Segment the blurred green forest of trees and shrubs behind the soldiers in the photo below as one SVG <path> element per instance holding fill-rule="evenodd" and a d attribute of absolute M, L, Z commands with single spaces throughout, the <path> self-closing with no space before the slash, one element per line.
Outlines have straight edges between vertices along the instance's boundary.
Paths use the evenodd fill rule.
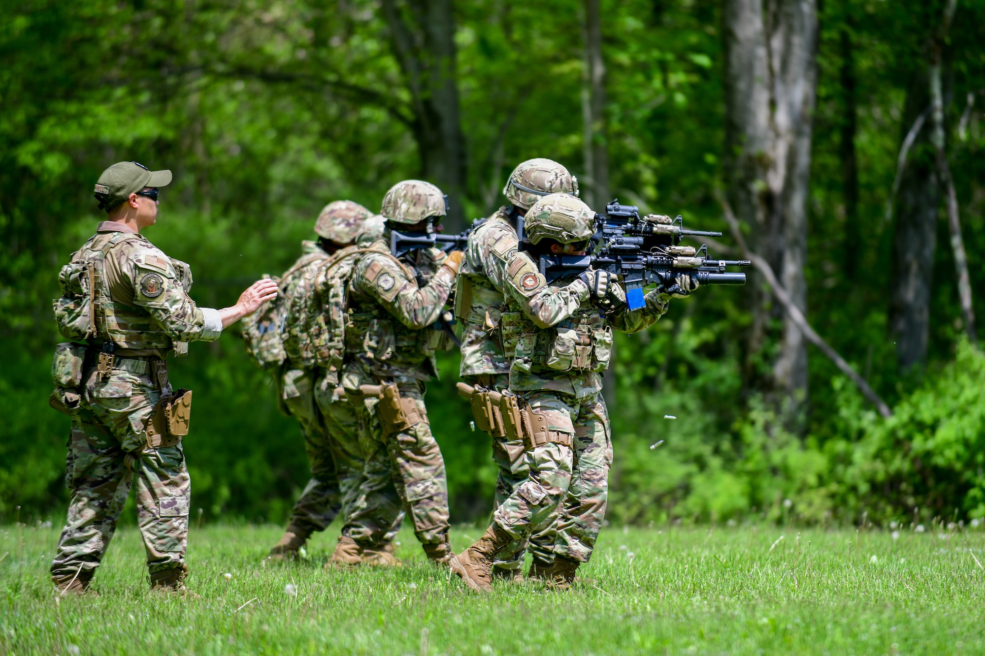
<path fill-rule="evenodd" d="M 760 273 L 701 289 L 618 339 L 611 520 L 985 516 L 985 358 L 949 229 L 956 215 L 963 297 L 982 316 L 985 2 L 3 5 L 0 521 L 61 521 L 50 301 L 100 220 L 108 164 L 174 172 L 147 236 L 222 307 L 285 270 L 329 201 L 378 211 L 393 183 L 423 177 L 460 230 L 533 157 L 567 165 L 596 210 L 619 197 L 682 214 L 725 232 L 713 254 L 740 257 L 727 205 L 891 410 L 808 346 Z M 195 390 L 193 505 L 205 521 L 284 520 L 306 461 L 270 373 L 236 330 L 171 363 Z M 454 394 L 457 356 L 440 363 L 429 415 L 452 518 L 469 521 L 492 507 L 491 449 Z"/>

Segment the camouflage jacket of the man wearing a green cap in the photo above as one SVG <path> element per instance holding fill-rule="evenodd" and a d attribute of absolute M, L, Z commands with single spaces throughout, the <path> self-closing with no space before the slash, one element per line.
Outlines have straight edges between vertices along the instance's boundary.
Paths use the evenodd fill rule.
<path fill-rule="evenodd" d="M 164 358 L 172 348 L 183 351 L 182 343 L 219 337 L 219 310 L 198 307 L 188 295 L 188 265 L 171 260 L 123 224 L 105 221 L 97 230 L 61 272 L 63 290 L 82 295 L 89 292 L 86 267 L 96 265 L 96 339 L 112 341 L 121 357 Z M 55 301 L 60 326 L 64 312 L 71 311 L 59 306 L 61 301 Z M 88 341 L 93 338 L 90 334 Z"/>

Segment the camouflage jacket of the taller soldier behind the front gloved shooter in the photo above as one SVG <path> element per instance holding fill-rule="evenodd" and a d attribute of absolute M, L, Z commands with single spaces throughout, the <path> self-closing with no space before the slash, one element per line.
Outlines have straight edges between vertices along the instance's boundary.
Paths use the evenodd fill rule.
<path fill-rule="evenodd" d="M 506 260 L 516 252 L 516 229 L 508 208 L 499 208 L 469 234 L 458 275 L 456 314 L 462 322 L 460 375 L 509 372 L 509 360 L 499 342 L 499 312 L 504 300 Z"/>

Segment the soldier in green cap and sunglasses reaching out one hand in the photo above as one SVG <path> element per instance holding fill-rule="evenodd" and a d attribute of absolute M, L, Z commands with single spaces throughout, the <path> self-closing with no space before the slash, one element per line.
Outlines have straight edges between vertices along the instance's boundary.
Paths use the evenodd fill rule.
<path fill-rule="evenodd" d="M 51 574 L 62 593 L 89 586 L 134 482 L 151 585 L 183 589 L 191 491 L 181 408 L 190 406 L 172 406 L 176 418 L 164 408 L 190 403 L 190 392 L 171 396 L 164 358 L 187 353 L 187 342 L 216 340 L 277 295 L 267 280 L 232 307 L 195 304 L 188 265 L 140 234 L 155 224 L 158 191 L 170 179 L 169 170 L 132 162 L 103 171 L 96 195 L 108 221 L 61 270 L 55 318 L 71 342 L 55 354 L 51 404 L 72 419 L 65 475 L 72 498 Z"/>

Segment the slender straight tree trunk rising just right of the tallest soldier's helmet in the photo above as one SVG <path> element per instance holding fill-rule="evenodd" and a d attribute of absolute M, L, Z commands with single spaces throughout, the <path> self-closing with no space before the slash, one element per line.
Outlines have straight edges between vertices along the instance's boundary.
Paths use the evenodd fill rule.
<path fill-rule="evenodd" d="M 596 212 L 605 210 L 609 197 L 609 153 L 606 145 L 606 65 L 602 58 L 602 17 L 599 0 L 584 0 L 584 69 L 581 114 L 584 124 L 584 201 Z"/>

